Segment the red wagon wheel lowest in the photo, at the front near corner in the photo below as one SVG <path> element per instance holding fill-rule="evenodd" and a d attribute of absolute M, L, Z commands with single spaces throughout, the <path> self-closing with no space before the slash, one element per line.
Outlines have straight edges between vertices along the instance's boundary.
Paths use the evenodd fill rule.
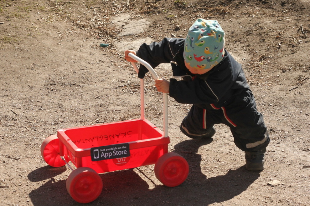
<path fill-rule="evenodd" d="M 88 167 L 75 169 L 66 181 L 67 191 L 79 203 L 90 203 L 101 194 L 102 180 L 95 170 Z"/>

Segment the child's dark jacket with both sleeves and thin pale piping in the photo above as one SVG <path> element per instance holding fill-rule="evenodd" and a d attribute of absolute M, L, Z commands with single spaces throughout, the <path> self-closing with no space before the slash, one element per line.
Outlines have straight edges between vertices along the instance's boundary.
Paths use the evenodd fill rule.
<path fill-rule="evenodd" d="M 184 41 L 183 38 L 164 38 L 159 43 L 143 43 L 137 51 L 137 56 L 153 68 L 160 63 L 176 62 L 171 63 L 173 77 L 183 77 L 183 80 L 170 79 L 170 97 L 178 103 L 218 109 L 233 102 L 235 95 L 249 90 L 241 65 L 226 50 L 223 60 L 209 72 L 202 75 L 190 73 L 184 64 Z M 143 65 L 140 69 L 146 70 Z"/>

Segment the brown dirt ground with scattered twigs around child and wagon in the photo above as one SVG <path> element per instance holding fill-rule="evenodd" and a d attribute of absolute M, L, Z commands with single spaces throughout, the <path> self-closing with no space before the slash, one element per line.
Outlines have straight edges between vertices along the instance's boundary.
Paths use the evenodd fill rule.
<path fill-rule="evenodd" d="M 188 161 L 185 182 L 164 186 L 154 165 L 103 173 L 88 205 L 310 205 L 309 15 L 308 0 L 0 0 L 0 205 L 82 205 L 66 190 L 70 168 L 47 165 L 42 142 L 62 128 L 139 118 L 124 50 L 185 38 L 197 18 L 220 22 L 243 65 L 270 133 L 265 169 L 245 170 L 225 125 L 209 140 L 184 136 L 191 105 L 169 98 L 168 150 Z M 165 65 L 156 71 L 171 77 Z M 162 129 L 162 94 L 145 81 L 146 118 Z"/>

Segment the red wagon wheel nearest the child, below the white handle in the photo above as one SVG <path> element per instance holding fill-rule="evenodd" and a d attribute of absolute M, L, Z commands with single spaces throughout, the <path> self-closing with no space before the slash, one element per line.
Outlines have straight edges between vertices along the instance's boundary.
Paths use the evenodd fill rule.
<path fill-rule="evenodd" d="M 161 183 L 168 187 L 176 187 L 187 178 L 189 164 L 177 153 L 165 153 L 155 163 L 154 172 Z"/>

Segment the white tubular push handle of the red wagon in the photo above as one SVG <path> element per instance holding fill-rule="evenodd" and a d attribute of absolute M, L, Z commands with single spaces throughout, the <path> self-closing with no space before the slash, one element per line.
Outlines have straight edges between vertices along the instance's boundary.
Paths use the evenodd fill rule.
<path fill-rule="evenodd" d="M 133 58 L 140 64 L 144 65 L 147 70 L 152 74 L 152 77 L 157 80 L 158 75 L 152 68 L 152 66 L 144 61 L 143 59 L 137 57 L 133 53 L 128 54 L 129 57 Z M 136 63 L 131 62 L 132 66 L 135 68 L 136 72 L 139 72 L 139 68 Z M 141 119 L 143 120 L 144 117 L 144 79 L 140 79 L 140 93 L 141 93 Z M 163 93 L 163 132 L 164 132 L 164 137 L 168 137 L 168 93 Z"/>

